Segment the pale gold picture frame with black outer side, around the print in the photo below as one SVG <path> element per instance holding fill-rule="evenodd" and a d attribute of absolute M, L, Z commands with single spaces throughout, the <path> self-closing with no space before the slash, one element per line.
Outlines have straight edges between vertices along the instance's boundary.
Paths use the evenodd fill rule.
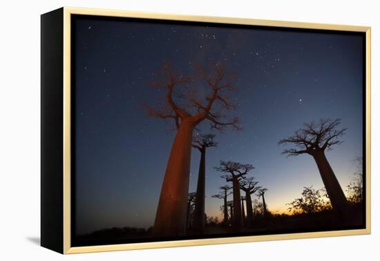
<path fill-rule="evenodd" d="M 55 12 L 55 11 L 53 11 Z M 53 18 L 55 21 L 61 21 L 61 31 L 58 33 L 61 34 L 62 42 L 62 51 L 61 54 L 63 59 L 61 76 L 62 76 L 62 105 L 63 105 L 63 115 L 62 115 L 62 139 L 61 148 L 63 149 L 62 153 L 62 162 L 61 170 L 62 179 L 55 181 L 54 186 L 61 186 L 62 191 L 62 205 L 57 203 L 59 210 L 52 209 L 51 206 L 44 209 L 44 204 L 46 204 L 45 197 L 46 193 L 41 193 L 41 200 L 43 201 L 41 209 L 41 225 L 43 226 L 44 232 L 41 231 L 41 244 L 44 247 L 53 249 L 60 253 L 90 253 L 90 252 L 99 252 L 99 251 L 120 251 L 120 250 L 131 250 L 131 249 L 151 249 L 151 248 L 163 248 L 163 247 L 184 247 L 184 246 L 196 246 L 196 245 L 208 245 L 208 244 L 226 244 L 226 243 L 240 243 L 240 242 L 257 242 L 257 241 L 267 241 L 267 240 L 289 240 L 289 239 L 300 239 L 300 238 L 319 238 L 319 237 L 332 237 L 332 236 L 342 236 L 342 235 L 365 235 L 370 234 L 371 231 L 371 206 L 370 206 L 370 153 L 371 153 L 371 115 L 370 115 L 370 71 L 371 71 L 371 62 L 370 62 L 370 35 L 371 28 L 364 26 L 345 26 L 345 25 L 333 25 L 333 24 L 323 24 L 323 23 L 301 23 L 301 22 L 292 22 L 292 21 L 270 21 L 270 20 L 259 20 L 259 19 L 243 19 L 243 18 L 231 18 L 231 17 L 203 17 L 203 16 L 193 16 L 193 15 L 180 15 L 180 14 L 160 14 L 160 13 L 151 13 L 151 12 L 131 12 L 131 11 L 121 11 L 121 10 L 99 10 L 99 9 L 88 9 L 88 8 L 61 8 L 59 11 L 59 18 Z M 72 247 L 70 243 L 71 237 L 71 108 L 72 103 L 70 100 L 71 97 L 71 84 L 72 79 L 70 77 L 71 73 L 71 17 L 73 14 L 81 15 L 92 15 L 92 16 L 105 16 L 105 17 L 130 17 L 130 18 L 139 18 L 139 19 L 164 19 L 164 20 L 173 20 L 173 21 L 196 21 L 196 22 L 207 22 L 207 23 L 228 23 L 232 25 L 247 25 L 247 26 L 267 26 L 267 27 L 276 27 L 276 28 L 299 28 L 299 29 L 316 29 L 316 30 L 339 30 L 339 31 L 350 31 L 350 32 L 363 32 L 365 33 L 365 229 L 352 229 L 352 230 L 342 230 L 342 231 L 320 231 L 320 232 L 310 232 L 310 233 L 289 233 L 289 234 L 278 234 L 278 235 L 249 235 L 249 236 L 238 236 L 231 238 L 207 238 L 207 239 L 196 239 L 196 240 L 175 240 L 175 241 L 162 241 L 162 242 L 143 242 L 143 243 L 131 243 L 131 244 L 107 244 L 107 245 L 97 245 L 97 246 L 88 246 L 88 247 Z M 43 20 L 44 15 L 43 14 Z M 49 20 L 46 20 L 49 22 Z M 48 32 L 53 32 L 52 29 L 44 29 L 44 24 L 42 24 L 42 32 L 45 32 L 48 35 Z M 49 31 L 48 31 L 49 30 Z M 44 36 L 42 35 L 44 40 Z M 57 39 L 57 41 L 60 41 Z M 42 41 L 44 45 L 44 41 Z M 41 47 L 41 48 L 44 48 Z M 44 51 L 44 50 L 43 50 Z M 44 61 L 44 57 L 42 58 Z M 46 74 L 46 67 L 42 70 L 42 76 Z M 59 72 L 56 72 L 59 73 Z M 48 80 L 46 80 L 47 82 Z M 59 81 L 58 81 L 59 82 Z M 57 83 L 57 81 L 55 82 Z M 51 84 L 50 84 L 51 85 Z M 44 90 L 44 87 L 43 87 Z M 44 101 L 43 101 L 44 102 Z M 43 108 L 44 110 L 44 108 Z M 44 112 L 42 112 L 44 114 Z M 47 116 L 46 116 L 47 117 Z M 47 121 L 47 120 L 46 120 Z M 44 123 L 43 123 L 44 126 Z M 54 136 L 54 135 L 53 135 Z M 53 139 L 54 137 L 51 137 Z M 50 139 L 50 138 L 46 138 Z M 44 143 L 44 141 L 42 141 Z M 44 152 L 43 152 L 44 153 Z M 46 155 L 46 157 L 49 157 Z M 46 160 L 48 160 L 46 158 Z M 44 157 L 43 157 L 44 162 Z M 44 172 L 44 170 L 42 170 Z M 44 182 L 44 178 L 48 179 L 44 173 L 41 174 L 41 181 Z M 46 180 L 46 184 L 50 184 L 50 181 Z M 51 186 L 51 185 L 50 185 Z M 44 189 L 42 187 L 41 189 Z M 55 197 L 52 197 L 54 200 Z M 45 200 L 45 201 L 44 201 Z M 53 203 L 52 203 L 53 204 Z M 61 211 L 61 212 L 60 212 Z M 50 218 L 53 218 L 57 213 L 63 213 L 61 220 L 58 222 L 61 224 L 59 228 L 57 226 L 54 229 L 46 226 L 46 223 Z M 57 230 L 61 230 L 61 241 L 59 243 L 50 244 L 48 240 L 51 239 L 51 234 Z M 50 238 L 49 238 L 50 235 Z M 61 244 L 61 247 L 55 247 L 57 244 Z"/>

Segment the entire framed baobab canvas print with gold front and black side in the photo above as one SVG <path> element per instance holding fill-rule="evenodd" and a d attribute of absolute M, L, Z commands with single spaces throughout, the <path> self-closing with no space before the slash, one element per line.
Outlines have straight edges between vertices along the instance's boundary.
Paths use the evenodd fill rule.
<path fill-rule="evenodd" d="M 41 245 L 370 233 L 370 28 L 41 15 Z"/>

